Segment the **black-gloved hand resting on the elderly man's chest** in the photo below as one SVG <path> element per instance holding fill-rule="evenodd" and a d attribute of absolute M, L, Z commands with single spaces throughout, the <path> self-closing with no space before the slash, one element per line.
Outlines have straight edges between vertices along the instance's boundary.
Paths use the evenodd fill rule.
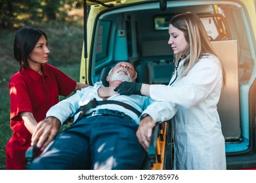
<path fill-rule="evenodd" d="M 114 89 L 120 95 L 141 95 L 140 88 L 142 83 L 138 82 L 122 82 L 117 88 Z"/>

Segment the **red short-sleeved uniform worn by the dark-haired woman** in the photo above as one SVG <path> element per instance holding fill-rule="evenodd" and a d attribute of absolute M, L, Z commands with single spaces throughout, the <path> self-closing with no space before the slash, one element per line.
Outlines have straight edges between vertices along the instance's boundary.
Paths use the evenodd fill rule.
<path fill-rule="evenodd" d="M 31 144 L 32 135 L 19 113 L 32 112 L 35 120 L 40 122 L 45 118 L 47 110 L 58 103 L 59 95 L 67 96 L 75 89 L 76 82 L 72 78 L 52 65 L 42 66 L 43 75 L 30 68 L 23 68 L 11 77 L 9 92 L 13 133 L 6 146 L 7 169 L 26 167 L 25 152 Z"/>

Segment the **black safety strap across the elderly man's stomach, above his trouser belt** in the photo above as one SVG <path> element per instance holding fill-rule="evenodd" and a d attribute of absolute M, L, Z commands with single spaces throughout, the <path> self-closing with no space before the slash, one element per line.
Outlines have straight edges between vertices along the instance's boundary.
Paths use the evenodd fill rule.
<path fill-rule="evenodd" d="M 120 101 L 110 101 L 110 100 L 96 101 L 96 99 L 93 98 L 93 99 L 91 99 L 91 101 L 89 101 L 89 103 L 79 107 L 79 109 L 75 112 L 75 114 L 77 114 L 78 112 L 81 111 L 79 116 L 78 116 L 78 118 L 77 118 L 77 120 L 75 120 L 75 122 L 78 122 L 79 120 L 84 118 L 84 116 L 86 115 L 86 112 L 88 110 L 90 110 L 91 108 L 95 108 L 97 105 L 104 105 L 104 104 L 121 105 L 122 107 L 125 107 L 125 108 L 135 112 L 135 114 L 137 114 L 138 116 L 140 116 L 140 114 L 141 114 L 141 112 L 139 112 L 139 110 L 137 110 L 136 108 L 132 107 L 131 105 L 128 105 L 127 103 L 123 103 L 123 102 L 120 102 Z M 74 116 L 75 116 L 75 114 L 74 114 Z"/>

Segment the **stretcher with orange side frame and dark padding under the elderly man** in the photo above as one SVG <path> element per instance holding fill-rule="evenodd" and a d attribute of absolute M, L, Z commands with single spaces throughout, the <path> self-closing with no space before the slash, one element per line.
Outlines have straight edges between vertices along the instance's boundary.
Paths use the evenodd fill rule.
<path fill-rule="evenodd" d="M 106 76 L 110 71 L 110 67 L 102 69 L 98 81 L 102 81 L 104 86 L 108 86 Z M 150 73 L 148 67 L 139 65 L 136 67 L 137 82 L 150 84 Z M 70 122 L 72 120 L 67 120 Z M 150 146 L 148 148 L 148 159 L 145 160 L 143 169 L 161 170 L 172 168 L 172 144 L 171 144 L 171 120 L 167 122 L 157 122 L 154 127 Z M 36 145 L 30 146 L 26 152 L 26 161 L 28 165 L 33 161 L 37 153 Z"/>

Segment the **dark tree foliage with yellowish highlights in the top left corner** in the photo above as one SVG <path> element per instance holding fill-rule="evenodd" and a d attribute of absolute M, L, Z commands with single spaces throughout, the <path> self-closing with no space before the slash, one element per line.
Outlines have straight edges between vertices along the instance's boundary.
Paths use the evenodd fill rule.
<path fill-rule="evenodd" d="M 65 21 L 69 10 L 81 4 L 69 0 L 0 0 L 1 27 L 21 27 L 51 21 Z"/>

